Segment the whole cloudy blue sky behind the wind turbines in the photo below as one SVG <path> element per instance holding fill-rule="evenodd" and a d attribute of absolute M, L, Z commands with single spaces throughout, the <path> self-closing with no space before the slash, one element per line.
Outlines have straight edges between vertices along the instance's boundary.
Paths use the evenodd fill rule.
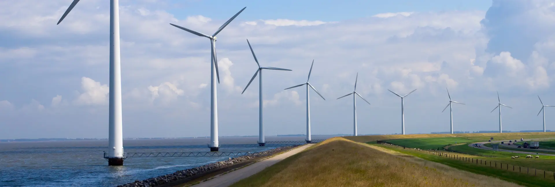
<path fill-rule="evenodd" d="M 108 137 L 109 3 L 0 1 L 0 139 Z M 124 137 L 210 134 L 210 48 L 171 26 L 218 34 L 220 136 L 258 135 L 258 78 L 264 72 L 266 135 L 352 133 L 359 73 L 359 134 L 542 130 L 541 103 L 555 105 L 555 1 L 162 1 L 121 0 Z M 555 109 L 546 108 L 548 130 Z"/>

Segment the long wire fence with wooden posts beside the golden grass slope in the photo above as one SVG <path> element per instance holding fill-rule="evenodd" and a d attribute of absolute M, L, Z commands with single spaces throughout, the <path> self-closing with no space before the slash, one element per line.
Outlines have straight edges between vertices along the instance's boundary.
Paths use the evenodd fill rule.
<path fill-rule="evenodd" d="M 508 163 L 502 163 L 502 162 L 499 162 L 499 161 L 490 161 L 488 159 L 482 159 L 482 158 L 460 156 L 458 154 L 454 154 L 454 153 L 450 153 L 450 152 L 446 153 L 446 152 L 439 152 L 439 151 L 435 151 L 435 150 L 430 151 L 430 150 L 424 150 L 424 149 L 419 149 L 419 148 L 410 148 L 410 147 L 406 147 L 406 146 L 393 145 L 391 143 L 385 143 L 385 142 L 380 142 L 380 144 L 387 145 L 387 146 L 392 146 L 392 147 L 396 147 L 396 148 L 402 148 L 402 149 L 406 149 L 408 151 L 416 151 L 416 152 L 421 152 L 421 153 L 437 155 L 439 157 L 451 158 L 451 159 L 459 160 L 461 162 L 473 163 L 473 164 L 480 165 L 480 166 L 483 166 L 483 167 L 492 167 L 492 168 L 496 168 L 496 169 L 503 169 L 503 170 L 507 170 L 507 171 L 511 171 L 511 172 L 517 172 L 517 173 L 521 173 L 521 174 L 532 175 L 532 176 L 537 177 L 537 178 L 555 180 L 555 172 L 551 172 L 551 171 L 547 171 L 547 170 L 529 168 L 529 167 L 521 167 L 519 165 L 512 165 L 512 164 L 508 164 Z M 464 153 L 464 154 L 467 154 L 467 153 Z M 526 158 L 520 157 L 520 158 L 515 158 L 515 159 L 526 159 Z M 529 159 L 535 159 L 535 157 L 532 156 L 532 158 L 529 158 Z"/>

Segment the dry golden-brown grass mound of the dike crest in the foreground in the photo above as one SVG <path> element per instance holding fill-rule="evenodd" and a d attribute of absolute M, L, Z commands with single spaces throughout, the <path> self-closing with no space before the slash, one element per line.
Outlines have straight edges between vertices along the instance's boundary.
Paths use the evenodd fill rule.
<path fill-rule="evenodd" d="M 232 186 L 519 186 L 336 137 Z"/>

